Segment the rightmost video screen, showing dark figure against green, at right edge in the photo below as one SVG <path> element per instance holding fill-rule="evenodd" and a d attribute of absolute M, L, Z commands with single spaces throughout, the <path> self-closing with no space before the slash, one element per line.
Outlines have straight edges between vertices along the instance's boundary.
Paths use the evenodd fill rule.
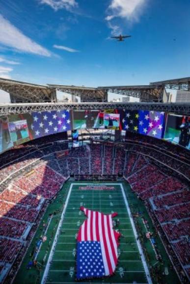
<path fill-rule="evenodd" d="M 190 117 L 168 115 L 164 140 L 190 149 Z"/>

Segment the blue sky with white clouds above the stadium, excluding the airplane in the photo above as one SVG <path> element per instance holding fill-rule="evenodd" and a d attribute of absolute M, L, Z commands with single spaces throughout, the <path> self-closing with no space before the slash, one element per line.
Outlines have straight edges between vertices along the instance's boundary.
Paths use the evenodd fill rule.
<path fill-rule="evenodd" d="M 1 0 L 0 77 L 149 84 L 190 76 L 189 0 Z M 130 34 L 125 42 L 109 37 Z"/>

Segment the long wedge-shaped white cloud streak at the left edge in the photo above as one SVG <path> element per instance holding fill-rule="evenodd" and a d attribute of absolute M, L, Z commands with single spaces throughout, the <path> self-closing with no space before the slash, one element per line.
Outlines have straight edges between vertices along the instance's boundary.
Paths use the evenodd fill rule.
<path fill-rule="evenodd" d="M 0 15 L 0 43 L 17 51 L 51 56 L 51 52 L 48 49 L 32 41 L 17 27 L 4 19 L 2 15 Z"/>

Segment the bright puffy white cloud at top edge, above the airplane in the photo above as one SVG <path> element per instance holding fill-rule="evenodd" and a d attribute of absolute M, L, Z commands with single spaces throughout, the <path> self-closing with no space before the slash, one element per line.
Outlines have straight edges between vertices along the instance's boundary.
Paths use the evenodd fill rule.
<path fill-rule="evenodd" d="M 120 17 L 129 21 L 137 21 L 139 13 L 147 0 L 111 0 L 106 20 Z"/>

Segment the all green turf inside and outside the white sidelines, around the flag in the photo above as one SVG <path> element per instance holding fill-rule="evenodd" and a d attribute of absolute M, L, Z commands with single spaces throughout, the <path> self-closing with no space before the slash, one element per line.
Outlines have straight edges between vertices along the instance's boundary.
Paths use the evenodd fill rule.
<path fill-rule="evenodd" d="M 83 183 L 83 182 L 82 182 Z M 64 185 L 63 189 L 59 192 L 57 198 L 49 205 L 47 212 L 44 215 L 44 218 L 41 221 L 39 229 L 34 236 L 34 239 L 28 249 L 27 255 L 23 261 L 23 264 L 17 274 L 15 279 L 16 284 L 34 284 L 40 283 L 40 280 L 43 275 L 43 271 L 45 269 L 45 265 L 48 260 L 50 247 L 52 245 L 54 234 L 56 232 L 56 228 L 58 226 L 58 220 L 60 219 L 60 213 L 57 212 L 54 215 L 54 218 L 51 221 L 50 227 L 47 232 L 47 241 L 43 243 L 40 253 L 38 255 L 37 261 L 42 264 L 38 264 L 38 268 L 32 267 L 27 270 L 26 266 L 29 260 L 31 260 L 31 252 L 35 247 L 35 242 L 39 238 L 42 232 L 43 221 L 47 222 L 48 216 L 50 213 L 53 213 L 55 210 L 62 211 L 63 204 L 66 199 L 67 192 L 70 187 L 70 182 L 67 182 Z M 148 217 L 148 213 L 143 205 L 143 203 L 137 200 L 134 193 L 131 191 L 128 184 L 123 182 L 124 189 L 126 191 L 126 195 L 128 198 L 129 205 L 132 211 L 143 211 L 143 214 L 146 215 L 146 218 L 149 221 L 149 225 L 152 228 L 151 220 Z M 111 195 L 111 198 L 110 196 Z M 110 204 L 113 203 L 113 206 Z M 53 261 L 50 266 L 47 283 L 73 283 L 75 282 L 75 249 L 76 249 L 76 234 L 82 224 L 85 216 L 83 212 L 79 211 L 79 207 L 83 205 L 86 208 L 97 210 L 103 213 L 111 213 L 118 212 L 118 218 L 120 220 L 120 225 L 118 227 L 119 231 L 123 234 L 124 237 L 120 238 L 120 246 L 119 250 L 121 252 L 119 257 L 119 263 L 116 269 L 116 273 L 114 276 L 100 280 L 93 280 L 91 282 L 94 283 L 146 283 L 146 276 L 144 273 L 143 265 L 140 260 L 138 248 L 136 245 L 136 240 L 134 237 L 134 233 L 132 230 L 132 226 L 130 223 L 130 219 L 124 204 L 123 196 L 121 193 L 121 189 L 119 186 L 115 186 L 115 190 L 111 191 L 97 191 L 97 190 L 79 190 L 78 186 L 74 186 L 70 199 L 68 202 L 68 206 L 65 212 L 64 220 L 62 223 L 62 227 L 60 230 L 60 234 L 58 236 L 57 244 L 55 247 L 55 252 L 53 255 Z M 80 222 L 79 222 L 80 221 Z M 141 232 L 145 233 L 143 224 L 139 218 L 138 220 L 139 227 L 141 228 Z M 52 238 L 52 239 L 51 239 Z M 50 240 L 51 239 L 51 240 Z M 149 263 L 151 266 L 155 265 L 161 266 L 161 273 L 163 272 L 165 266 L 168 267 L 169 275 L 164 276 L 165 283 L 177 284 L 178 279 L 173 271 L 170 269 L 170 262 L 166 256 L 166 253 L 163 249 L 163 245 L 159 239 L 156 238 L 158 242 L 158 247 L 162 252 L 162 256 L 164 259 L 164 265 L 161 266 L 157 262 L 155 258 L 154 251 L 149 242 L 145 242 L 144 246 L 147 249 L 147 256 L 149 258 Z M 126 243 L 127 242 L 127 243 Z M 43 259 L 46 255 L 45 262 L 43 263 Z M 160 265 L 160 266 L 159 266 Z M 155 267 L 153 266 L 153 267 Z M 41 269 L 40 269 L 41 268 Z M 122 274 L 121 274 L 122 272 Z M 156 280 L 153 279 L 153 282 L 156 283 Z M 84 283 L 84 282 L 82 282 Z M 86 281 L 89 283 L 89 281 Z"/>

